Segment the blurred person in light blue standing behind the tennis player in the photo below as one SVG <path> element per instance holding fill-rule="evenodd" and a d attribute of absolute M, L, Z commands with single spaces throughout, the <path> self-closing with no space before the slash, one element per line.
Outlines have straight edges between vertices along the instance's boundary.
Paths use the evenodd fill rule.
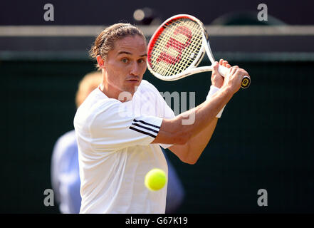
<path fill-rule="evenodd" d="M 75 104 L 78 108 L 85 98 L 97 88 L 103 79 L 101 71 L 87 73 L 80 81 L 75 95 Z M 184 200 L 184 187 L 172 163 L 167 159 L 165 150 L 162 150 L 168 165 L 168 187 L 166 199 L 166 214 L 174 213 Z M 51 157 L 51 185 L 56 202 L 61 213 L 77 214 L 80 212 L 80 175 L 78 166 L 78 145 L 75 131 L 70 130 L 61 135 L 53 147 Z"/>

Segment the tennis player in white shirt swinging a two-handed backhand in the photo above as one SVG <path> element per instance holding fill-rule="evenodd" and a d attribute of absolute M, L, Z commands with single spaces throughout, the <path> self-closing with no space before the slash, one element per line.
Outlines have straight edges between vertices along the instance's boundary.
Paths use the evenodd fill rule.
<path fill-rule="evenodd" d="M 211 89 L 201 105 L 175 116 L 146 71 L 147 43 L 139 28 L 114 24 L 90 51 L 103 81 L 74 118 L 80 165 L 80 213 L 164 213 L 167 186 L 150 192 L 144 178 L 152 168 L 167 173 L 159 145 L 194 164 L 209 142 L 224 108 L 248 73 L 231 67 L 223 78 L 214 64 Z M 194 123 L 182 124 L 194 116 Z"/>

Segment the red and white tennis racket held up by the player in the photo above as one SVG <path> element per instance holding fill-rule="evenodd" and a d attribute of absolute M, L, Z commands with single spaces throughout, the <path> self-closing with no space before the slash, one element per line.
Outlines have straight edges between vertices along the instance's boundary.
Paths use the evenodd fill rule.
<path fill-rule="evenodd" d="M 215 62 L 209 46 L 209 36 L 199 19 L 187 14 L 172 16 L 152 35 L 147 48 L 147 68 L 157 78 L 175 81 L 194 73 L 212 71 L 211 66 L 197 67 L 206 52 Z M 219 65 L 221 76 L 229 68 Z M 248 88 L 251 78 L 244 76 L 241 88 Z"/>

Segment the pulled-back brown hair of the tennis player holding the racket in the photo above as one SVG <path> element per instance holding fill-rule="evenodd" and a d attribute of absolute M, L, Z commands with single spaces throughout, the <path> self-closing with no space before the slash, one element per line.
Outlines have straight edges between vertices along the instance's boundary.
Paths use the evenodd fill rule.
<path fill-rule="evenodd" d="M 105 30 L 103 30 L 95 39 L 92 48 L 90 48 L 90 57 L 95 59 L 98 55 L 100 55 L 105 61 L 108 56 L 108 52 L 114 48 L 115 41 L 120 38 L 124 38 L 125 36 L 133 35 L 142 36 L 142 38 L 146 41 L 144 33 L 132 24 L 118 23 L 105 28 Z M 99 68 L 98 65 L 97 67 Z"/>

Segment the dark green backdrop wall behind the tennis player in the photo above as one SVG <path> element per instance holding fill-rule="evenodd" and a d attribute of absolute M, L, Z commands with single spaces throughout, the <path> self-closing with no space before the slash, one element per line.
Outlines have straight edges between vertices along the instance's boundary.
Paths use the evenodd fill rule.
<path fill-rule="evenodd" d="M 249 60 L 249 58 L 248 58 Z M 183 213 L 314 212 L 313 61 L 234 61 L 252 84 L 226 105 L 196 165 L 169 152 L 186 197 Z M 73 129 L 78 81 L 86 61 L 0 61 L 2 213 L 57 213 L 45 207 L 54 142 Z M 159 91 L 195 91 L 202 103 L 209 73 L 164 82 Z M 258 207 L 266 189 L 268 206 Z"/>

